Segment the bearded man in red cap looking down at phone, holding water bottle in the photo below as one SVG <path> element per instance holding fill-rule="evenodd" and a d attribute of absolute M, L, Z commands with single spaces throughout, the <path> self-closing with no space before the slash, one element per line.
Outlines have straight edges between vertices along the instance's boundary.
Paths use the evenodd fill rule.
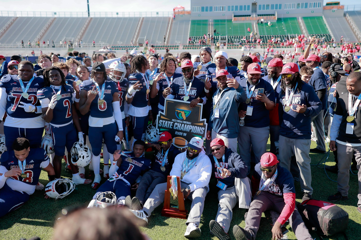
<path fill-rule="evenodd" d="M 247 82 L 242 86 L 246 92 L 246 101 L 239 105 L 239 117 L 244 121 L 238 133 L 239 155 L 251 171 L 251 145 L 256 163 L 266 152 L 270 129 L 269 111 L 275 107 L 274 90 L 270 83 L 261 78 L 261 66 L 251 63 L 247 68 Z M 262 91 L 263 93 L 261 93 Z M 233 150 L 233 149 L 232 149 Z"/>

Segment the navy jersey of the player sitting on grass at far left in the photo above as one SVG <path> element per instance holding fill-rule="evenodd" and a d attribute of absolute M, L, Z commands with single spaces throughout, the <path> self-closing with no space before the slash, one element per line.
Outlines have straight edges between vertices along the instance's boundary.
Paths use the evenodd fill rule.
<path fill-rule="evenodd" d="M 46 160 L 49 160 L 49 158 L 44 149 L 31 148 L 29 151 L 29 155 L 25 159 L 26 166 L 24 173 L 26 174 L 26 178 L 22 178 L 21 176 L 11 177 L 11 178 L 22 182 L 26 182 L 27 184 L 30 185 L 38 184 L 40 172 L 42 171 L 40 164 Z M 1 161 L 1 165 L 8 170 L 12 168 L 19 168 L 18 159 L 15 157 L 14 150 L 5 151 L 3 154 L 1 154 L 0 161 Z"/>

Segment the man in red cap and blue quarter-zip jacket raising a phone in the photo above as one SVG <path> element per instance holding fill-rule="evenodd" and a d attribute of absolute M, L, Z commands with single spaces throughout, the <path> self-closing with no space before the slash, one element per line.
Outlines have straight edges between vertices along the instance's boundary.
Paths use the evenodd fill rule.
<path fill-rule="evenodd" d="M 225 145 L 237 151 L 238 106 L 246 99 L 246 94 L 235 78 L 227 78 L 228 72 L 219 69 L 216 73 L 218 88 L 213 94 L 212 109 L 208 122 L 208 140 L 219 137 L 225 141 Z"/>

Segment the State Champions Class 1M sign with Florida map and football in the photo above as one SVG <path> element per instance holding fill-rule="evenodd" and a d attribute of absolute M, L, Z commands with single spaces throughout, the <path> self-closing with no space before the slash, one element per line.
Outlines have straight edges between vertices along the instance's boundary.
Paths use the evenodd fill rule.
<path fill-rule="evenodd" d="M 203 105 L 190 107 L 190 102 L 165 99 L 164 112 L 157 116 L 158 133 L 167 131 L 173 136 L 173 145 L 184 148 L 192 137 L 205 139 L 206 119 L 202 117 Z"/>

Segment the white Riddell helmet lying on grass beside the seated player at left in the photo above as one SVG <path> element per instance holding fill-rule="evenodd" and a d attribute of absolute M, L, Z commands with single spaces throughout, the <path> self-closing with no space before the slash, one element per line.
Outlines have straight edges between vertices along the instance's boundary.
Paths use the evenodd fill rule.
<path fill-rule="evenodd" d="M 75 189 L 75 183 L 68 178 L 50 181 L 45 187 L 45 194 L 51 198 L 64 198 Z"/>

